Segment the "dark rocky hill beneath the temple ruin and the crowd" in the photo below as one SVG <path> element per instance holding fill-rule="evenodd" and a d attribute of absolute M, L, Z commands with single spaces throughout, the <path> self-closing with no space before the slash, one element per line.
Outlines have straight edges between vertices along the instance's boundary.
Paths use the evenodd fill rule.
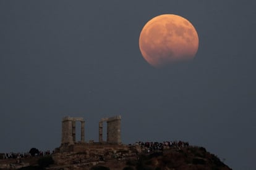
<path fill-rule="evenodd" d="M 0 169 L 231 169 L 203 147 L 166 147 L 158 143 L 95 144 L 83 152 L 56 152 L 31 160 L 22 158 L 20 163 L 25 166 L 15 163 L 16 160 L 0 160 Z"/>

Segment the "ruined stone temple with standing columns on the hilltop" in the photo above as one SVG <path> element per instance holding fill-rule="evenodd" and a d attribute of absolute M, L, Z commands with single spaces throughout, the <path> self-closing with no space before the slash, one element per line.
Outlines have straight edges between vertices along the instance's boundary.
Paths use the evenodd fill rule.
<path fill-rule="evenodd" d="M 76 122 L 81 123 L 81 138 L 76 141 Z M 103 123 L 107 123 L 106 129 L 106 141 L 103 140 Z M 99 122 L 99 141 L 93 142 L 90 140 L 89 143 L 85 142 L 85 121 L 83 118 L 72 118 L 66 116 L 62 118 L 62 137 L 60 152 L 75 152 L 87 148 L 88 145 L 92 147 L 95 145 L 120 145 L 121 142 L 121 116 L 114 116 L 111 118 L 102 118 Z"/>

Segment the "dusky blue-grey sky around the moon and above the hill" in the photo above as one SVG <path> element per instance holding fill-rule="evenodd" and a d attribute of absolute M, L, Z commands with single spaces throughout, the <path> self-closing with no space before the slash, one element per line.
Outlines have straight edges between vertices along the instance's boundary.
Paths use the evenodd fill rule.
<path fill-rule="evenodd" d="M 63 116 L 122 116 L 122 142 L 185 140 L 254 169 L 255 1 L 0 1 L 0 153 L 59 147 Z M 187 18 L 191 62 L 156 69 L 143 25 Z"/>

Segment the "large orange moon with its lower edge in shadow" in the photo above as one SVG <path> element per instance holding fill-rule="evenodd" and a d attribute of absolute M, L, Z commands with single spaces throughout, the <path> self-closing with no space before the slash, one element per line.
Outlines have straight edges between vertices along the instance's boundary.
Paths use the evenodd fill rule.
<path fill-rule="evenodd" d="M 152 18 L 139 38 L 140 52 L 153 67 L 192 60 L 198 49 L 198 34 L 192 23 L 179 15 Z"/>

